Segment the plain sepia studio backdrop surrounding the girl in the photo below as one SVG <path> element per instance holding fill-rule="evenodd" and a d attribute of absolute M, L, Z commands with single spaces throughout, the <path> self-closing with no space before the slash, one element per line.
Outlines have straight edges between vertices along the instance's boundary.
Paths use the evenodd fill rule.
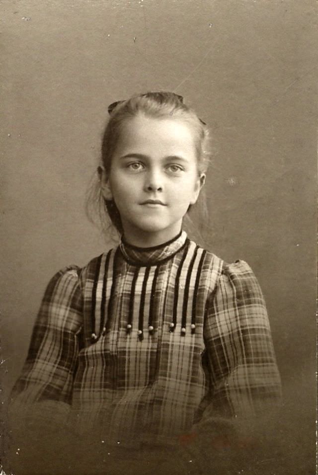
<path fill-rule="evenodd" d="M 211 129 L 205 245 L 247 261 L 267 302 L 279 473 L 315 473 L 316 4 L 1 1 L 2 406 L 49 279 L 114 245 L 84 213 L 107 105 L 172 90 Z"/>

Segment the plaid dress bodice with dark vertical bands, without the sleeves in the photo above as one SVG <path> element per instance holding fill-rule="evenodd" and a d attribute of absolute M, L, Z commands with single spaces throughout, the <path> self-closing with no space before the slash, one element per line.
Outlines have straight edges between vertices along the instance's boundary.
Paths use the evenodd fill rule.
<path fill-rule="evenodd" d="M 185 432 L 211 389 L 204 315 L 223 261 L 185 234 L 173 246 L 148 262 L 136 249 L 112 249 L 81 274 L 84 347 L 73 409 L 81 427 L 98 427 L 114 444 Z"/>

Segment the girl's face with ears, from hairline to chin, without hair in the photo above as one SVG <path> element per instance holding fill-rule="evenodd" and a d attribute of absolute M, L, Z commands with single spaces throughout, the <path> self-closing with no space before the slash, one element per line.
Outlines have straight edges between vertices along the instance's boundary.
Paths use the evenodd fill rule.
<path fill-rule="evenodd" d="M 102 192 L 115 201 L 128 242 L 153 246 L 180 232 L 204 179 L 187 123 L 139 115 L 123 126 Z"/>

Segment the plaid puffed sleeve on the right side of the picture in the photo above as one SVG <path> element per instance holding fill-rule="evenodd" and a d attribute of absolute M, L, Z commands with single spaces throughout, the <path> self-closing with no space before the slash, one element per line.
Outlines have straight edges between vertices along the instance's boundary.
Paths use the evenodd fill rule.
<path fill-rule="evenodd" d="M 281 381 L 264 298 L 249 265 L 223 265 L 204 329 L 211 394 L 197 428 L 250 434 L 273 419 Z"/>

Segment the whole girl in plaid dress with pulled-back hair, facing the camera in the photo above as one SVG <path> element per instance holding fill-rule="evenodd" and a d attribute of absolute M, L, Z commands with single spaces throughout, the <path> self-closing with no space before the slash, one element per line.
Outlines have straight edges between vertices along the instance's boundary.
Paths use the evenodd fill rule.
<path fill-rule="evenodd" d="M 252 270 L 182 230 L 205 182 L 205 124 L 169 92 L 115 102 L 109 113 L 99 198 L 121 241 L 50 281 L 12 393 L 13 430 L 29 445 L 40 434 L 37 452 L 45 434 L 45 464 L 48 448 L 55 463 L 64 448 L 63 473 L 81 473 L 79 457 L 86 474 L 172 474 L 170 451 L 246 441 L 279 399 L 280 378 Z M 198 474 L 199 459 L 178 460 Z"/>

